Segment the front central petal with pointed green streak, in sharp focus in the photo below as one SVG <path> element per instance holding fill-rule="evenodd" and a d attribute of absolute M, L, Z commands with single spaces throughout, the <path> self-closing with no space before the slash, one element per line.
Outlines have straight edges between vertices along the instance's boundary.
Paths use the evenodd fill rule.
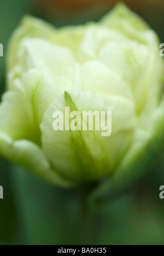
<path fill-rule="evenodd" d="M 102 137 L 102 131 L 94 128 L 93 131 L 52 130 L 52 114 L 56 110 L 65 114 L 66 106 L 81 114 L 89 110 L 112 110 L 112 136 Z M 131 144 L 135 125 L 131 101 L 95 92 L 69 91 L 54 101 L 44 115 L 41 125 L 44 154 L 67 179 L 97 179 L 111 173 L 118 164 Z"/>

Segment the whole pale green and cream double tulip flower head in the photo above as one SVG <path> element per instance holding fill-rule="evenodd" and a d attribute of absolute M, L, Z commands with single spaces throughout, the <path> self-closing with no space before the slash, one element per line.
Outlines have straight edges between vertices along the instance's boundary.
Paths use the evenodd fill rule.
<path fill-rule="evenodd" d="M 63 186 L 131 181 L 134 166 L 144 172 L 143 156 L 149 162 L 162 148 L 162 75 L 155 32 L 125 5 L 99 22 L 60 29 L 26 17 L 8 50 L 0 153 Z M 77 114 L 73 122 L 66 109 Z M 84 112 L 112 112 L 112 134 L 105 114 L 103 125 L 97 117 L 86 129 Z"/>

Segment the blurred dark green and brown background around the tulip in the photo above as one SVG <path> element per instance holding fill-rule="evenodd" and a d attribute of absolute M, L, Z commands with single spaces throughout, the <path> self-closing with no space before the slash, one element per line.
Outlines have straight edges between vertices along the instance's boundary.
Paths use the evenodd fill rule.
<path fill-rule="evenodd" d="M 0 95 L 5 88 L 5 56 L 8 39 L 22 16 L 30 13 L 55 26 L 98 20 L 116 0 L 1 0 Z M 164 1 L 127 0 L 159 34 L 164 43 Z M 163 155 L 156 168 L 131 191 L 109 203 L 99 204 L 90 223 L 92 244 L 164 245 L 164 200 L 159 188 L 164 185 Z M 0 158 L 0 245 L 75 245 L 83 240 L 78 217 L 79 191 L 54 188 Z M 103 214 L 101 214 L 103 213 Z M 102 217 L 103 216 L 103 217 Z M 96 228 L 95 228 L 96 227 Z M 90 243 L 91 243 L 90 242 Z"/>

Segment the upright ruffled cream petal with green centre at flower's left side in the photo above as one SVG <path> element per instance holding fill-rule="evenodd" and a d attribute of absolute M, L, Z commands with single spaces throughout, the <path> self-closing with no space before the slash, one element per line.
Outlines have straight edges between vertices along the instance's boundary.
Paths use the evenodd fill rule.
<path fill-rule="evenodd" d="M 14 89 L 3 96 L 0 105 L 0 131 L 13 139 L 40 142 L 39 124 L 49 104 L 59 92 L 51 79 L 31 70 L 16 79 Z"/>

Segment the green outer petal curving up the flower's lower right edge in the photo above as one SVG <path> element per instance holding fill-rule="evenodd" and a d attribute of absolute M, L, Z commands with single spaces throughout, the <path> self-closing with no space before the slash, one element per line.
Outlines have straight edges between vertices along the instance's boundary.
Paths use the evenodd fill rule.
<path fill-rule="evenodd" d="M 132 147 L 116 169 L 113 176 L 100 183 L 91 195 L 91 200 L 109 199 L 122 190 L 132 187 L 145 171 L 156 165 L 158 156 L 164 149 L 164 102 L 157 108 L 147 127 L 147 132 L 138 130 Z"/>

